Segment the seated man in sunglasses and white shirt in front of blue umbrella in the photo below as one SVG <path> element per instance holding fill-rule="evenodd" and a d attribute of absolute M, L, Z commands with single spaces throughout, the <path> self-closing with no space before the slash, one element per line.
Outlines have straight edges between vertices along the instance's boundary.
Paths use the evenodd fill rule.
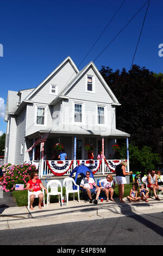
<path fill-rule="evenodd" d="M 96 188 L 93 188 L 93 186 L 95 186 Z M 97 204 L 97 199 L 99 197 L 99 194 L 101 192 L 100 187 L 97 186 L 95 180 L 93 178 L 90 178 L 90 172 L 89 170 L 86 171 L 86 177 L 82 179 L 81 183 L 80 183 L 80 187 L 83 188 L 84 191 L 86 191 L 87 196 L 90 199 L 90 203 L 92 203 L 92 196 L 91 193 L 95 193 L 96 192 L 96 199 L 93 201 L 93 204 Z"/>

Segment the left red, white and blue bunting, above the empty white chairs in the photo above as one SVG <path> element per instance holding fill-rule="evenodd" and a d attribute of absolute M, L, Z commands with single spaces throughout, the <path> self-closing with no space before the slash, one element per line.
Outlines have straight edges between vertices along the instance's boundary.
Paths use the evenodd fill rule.
<path fill-rule="evenodd" d="M 72 166 L 73 160 L 71 161 L 46 161 L 47 166 L 55 176 L 64 175 Z"/>

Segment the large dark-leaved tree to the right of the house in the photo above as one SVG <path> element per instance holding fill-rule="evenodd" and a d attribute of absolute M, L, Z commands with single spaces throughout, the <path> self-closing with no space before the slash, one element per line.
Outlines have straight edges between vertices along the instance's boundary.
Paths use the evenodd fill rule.
<path fill-rule="evenodd" d="M 117 129 L 130 133 L 130 143 L 162 155 L 162 76 L 137 65 L 128 72 L 102 66 L 100 72 L 121 103 L 116 108 Z"/>

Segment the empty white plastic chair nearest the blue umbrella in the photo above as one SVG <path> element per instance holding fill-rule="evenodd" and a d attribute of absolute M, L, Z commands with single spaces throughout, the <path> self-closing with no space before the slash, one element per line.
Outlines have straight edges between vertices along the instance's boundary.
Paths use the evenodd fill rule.
<path fill-rule="evenodd" d="M 80 197 L 79 197 L 79 185 L 76 184 L 73 178 L 65 178 L 63 185 L 66 187 L 66 193 L 65 193 L 65 200 L 68 204 L 68 194 L 73 193 L 73 200 L 74 200 L 74 193 L 78 193 L 78 201 L 80 202 Z M 73 186 L 77 186 L 76 190 L 73 190 Z"/>

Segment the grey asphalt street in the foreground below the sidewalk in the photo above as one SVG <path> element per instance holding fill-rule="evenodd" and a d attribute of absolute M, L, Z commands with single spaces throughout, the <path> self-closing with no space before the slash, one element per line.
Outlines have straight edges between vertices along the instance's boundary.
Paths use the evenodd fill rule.
<path fill-rule="evenodd" d="M 106 248 L 108 245 L 163 245 L 162 219 L 163 212 L 156 212 L 1 230 L 0 241 L 1 245 L 58 245 L 69 248 L 71 245 L 101 245 Z"/>

